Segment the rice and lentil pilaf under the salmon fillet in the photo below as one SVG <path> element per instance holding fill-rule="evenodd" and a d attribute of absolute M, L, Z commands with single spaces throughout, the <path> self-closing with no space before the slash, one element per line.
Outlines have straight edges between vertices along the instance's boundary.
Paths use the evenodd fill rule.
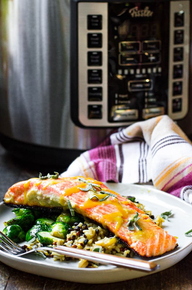
<path fill-rule="evenodd" d="M 137 202 L 135 203 L 135 205 L 141 210 L 145 211 L 145 213 L 148 214 L 158 226 L 162 226 L 162 222 L 164 222 L 164 219 L 160 215 L 157 215 L 156 219 L 154 219 L 151 211 L 146 211 L 143 204 Z M 53 258 L 54 261 L 60 260 L 62 262 L 64 260 L 70 260 L 72 258 L 54 252 L 54 247 L 64 245 L 67 247 L 85 249 L 112 255 L 119 255 L 122 257 L 133 256 L 133 251 L 128 249 L 128 246 L 123 243 L 119 238 L 114 236 L 112 232 L 104 229 L 101 225 L 98 225 L 88 219 L 85 219 L 84 222 L 74 223 L 69 231 L 70 232 L 67 234 L 65 240 L 59 239 L 58 241 L 57 238 L 55 238 L 53 244 L 49 245 L 53 247 L 53 251 L 50 251 L 50 253 L 48 253 L 47 251 L 42 251 L 43 254 L 46 257 Z M 34 242 L 29 242 L 28 244 L 26 244 L 26 246 L 30 250 L 37 246 L 42 246 L 42 244 L 36 238 Z M 92 268 L 98 267 L 98 265 L 96 263 L 80 259 L 78 262 L 78 267 Z"/>

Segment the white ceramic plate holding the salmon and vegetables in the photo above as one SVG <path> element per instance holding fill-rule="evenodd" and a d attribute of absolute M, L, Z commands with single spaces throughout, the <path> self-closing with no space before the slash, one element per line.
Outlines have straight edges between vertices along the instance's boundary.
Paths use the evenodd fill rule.
<path fill-rule="evenodd" d="M 192 237 L 184 235 L 186 231 L 192 228 L 192 207 L 190 204 L 150 186 L 124 183 L 107 183 L 107 186 L 121 195 L 135 196 L 136 200 L 143 203 L 146 210 L 152 210 L 152 214 L 155 216 L 172 210 L 173 217 L 169 218 L 169 221 L 165 221 L 163 227 L 169 234 L 178 237 L 179 246 L 174 251 L 153 259 L 160 265 L 160 269 L 157 271 L 167 269 L 190 253 Z M 14 214 L 11 210 L 11 208 L 0 203 L 0 230 L 4 228 L 3 222 L 13 217 Z M 100 265 L 98 268 L 89 269 L 78 268 L 78 262 L 76 261 L 54 262 L 51 258 L 42 259 L 32 254 L 15 257 L 3 253 L 1 250 L 0 260 L 6 265 L 24 272 L 80 283 L 119 282 L 148 275 L 146 272 L 110 265 Z"/>

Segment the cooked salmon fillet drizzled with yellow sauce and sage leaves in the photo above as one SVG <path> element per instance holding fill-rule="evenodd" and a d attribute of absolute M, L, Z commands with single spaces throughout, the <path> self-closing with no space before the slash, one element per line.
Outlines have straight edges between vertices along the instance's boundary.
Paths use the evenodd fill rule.
<path fill-rule="evenodd" d="M 157 226 L 133 202 L 91 178 L 20 181 L 8 189 L 4 203 L 13 207 L 72 207 L 112 231 L 143 257 L 159 256 L 177 246 L 176 238 Z"/>

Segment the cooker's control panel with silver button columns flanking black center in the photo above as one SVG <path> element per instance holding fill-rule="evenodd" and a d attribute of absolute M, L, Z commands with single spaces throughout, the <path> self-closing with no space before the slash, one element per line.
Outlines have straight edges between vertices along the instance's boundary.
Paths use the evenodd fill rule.
<path fill-rule="evenodd" d="M 189 0 L 78 2 L 78 125 L 184 118 L 189 6 Z"/>

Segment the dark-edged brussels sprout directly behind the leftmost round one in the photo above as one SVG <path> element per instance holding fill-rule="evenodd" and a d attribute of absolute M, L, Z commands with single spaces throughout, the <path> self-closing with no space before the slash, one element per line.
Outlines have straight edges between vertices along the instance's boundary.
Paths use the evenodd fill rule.
<path fill-rule="evenodd" d="M 5 226 L 11 226 L 12 224 L 17 224 L 18 226 L 21 226 L 23 231 L 28 231 L 30 227 L 32 226 L 34 222 L 34 216 L 33 215 L 21 215 L 18 217 L 15 217 L 13 219 L 10 219 L 8 222 L 4 222 Z"/>

